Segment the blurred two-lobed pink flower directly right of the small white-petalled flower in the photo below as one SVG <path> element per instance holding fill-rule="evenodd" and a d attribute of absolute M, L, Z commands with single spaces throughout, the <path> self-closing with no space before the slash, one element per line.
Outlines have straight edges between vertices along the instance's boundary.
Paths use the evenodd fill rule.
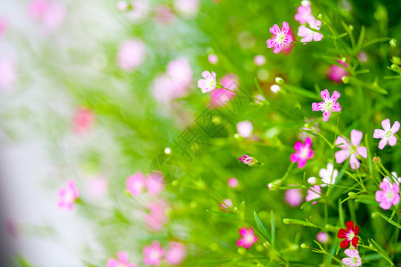
<path fill-rule="evenodd" d="M 230 90 L 236 91 L 238 89 L 238 77 L 233 73 L 227 73 L 219 80 L 220 84 Z M 232 101 L 236 93 L 225 90 L 224 88 L 213 90 L 210 93 L 209 108 L 223 107 L 229 101 Z"/>

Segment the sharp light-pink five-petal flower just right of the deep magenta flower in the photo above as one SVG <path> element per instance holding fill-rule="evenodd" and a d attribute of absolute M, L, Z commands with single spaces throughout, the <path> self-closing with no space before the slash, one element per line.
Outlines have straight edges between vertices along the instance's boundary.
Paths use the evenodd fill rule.
<path fill-rule="evenodd" d="M 365 147 L 360 147 L 359 144 L 362 141 L 362 137 L 364 134 L 357 130 L 351 131 L 351 142 L 348 142 L 343 137 L 337 137 L 335 142 L 336 146 L 338 146 L 341 150 L 337 151 L 334 155 L 337 163 L 343 163 L 347 158 L 349 158 L 349 164 L 352 169 L 359 168 L 359 161 L 356 158 L 357 156 L 361 156 L 363 158 L 367 157 L 367 150 Z"/>

